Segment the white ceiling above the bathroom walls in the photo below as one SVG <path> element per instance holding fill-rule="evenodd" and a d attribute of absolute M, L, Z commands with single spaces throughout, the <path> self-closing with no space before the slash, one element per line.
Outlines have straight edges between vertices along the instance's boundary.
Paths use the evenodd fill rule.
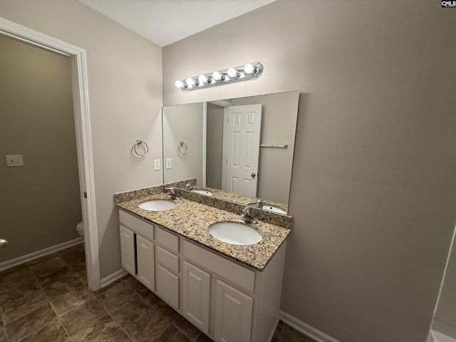
<path fill-rule="evenodd" d="M 276 0 L 79 0 L 158 46 L 167 46 Z"/>

